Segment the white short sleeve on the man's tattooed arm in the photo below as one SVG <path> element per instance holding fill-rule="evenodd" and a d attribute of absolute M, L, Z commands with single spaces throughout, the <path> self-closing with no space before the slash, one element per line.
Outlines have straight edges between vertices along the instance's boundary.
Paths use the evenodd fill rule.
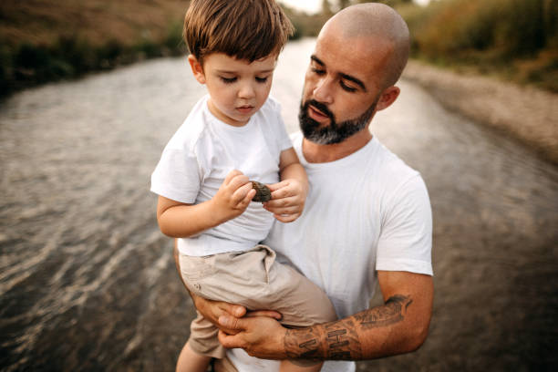
<path fill-rule="evenodd" d="M 432 275 L 432 212 L 422 178 L 404 181 L 382 208 L 376 269 Z"/>

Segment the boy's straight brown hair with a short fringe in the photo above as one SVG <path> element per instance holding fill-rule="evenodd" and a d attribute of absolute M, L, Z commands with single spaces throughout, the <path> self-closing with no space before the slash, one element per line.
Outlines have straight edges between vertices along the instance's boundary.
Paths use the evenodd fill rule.
<path fill-rule="evenodd" d="M 252 63 L 279 54 L 293 32 L 274 0 L 191 0 L 183 36 L 201 64 L 212 53 Z"/>

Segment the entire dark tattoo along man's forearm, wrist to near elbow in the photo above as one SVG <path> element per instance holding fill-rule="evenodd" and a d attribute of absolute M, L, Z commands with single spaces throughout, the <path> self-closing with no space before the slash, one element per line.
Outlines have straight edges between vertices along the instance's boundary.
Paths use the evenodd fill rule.
<path fill-rule="evenodd" d="M 403 320 L 410 297 L 396 294 L 385 305 L 349 318 L 304 329 L 288 329 L 284 348 L 290 358 L 358 360 L 363 358 L 358 333 Z"/>

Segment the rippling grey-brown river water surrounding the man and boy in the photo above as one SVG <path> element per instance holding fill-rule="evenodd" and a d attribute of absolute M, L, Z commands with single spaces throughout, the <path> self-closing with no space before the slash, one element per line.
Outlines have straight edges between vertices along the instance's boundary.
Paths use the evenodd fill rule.
<path fill-rule="evenodd" d="M 295 130 L 313 40 L 272 94 Z M 372 131 L 420 171 L 436 298 L 418 352 L 374 370 L 558 365 L 558 169 L 403 80 Z M 204 93 L 185 58 L 29 89 L 0 106 L 0 368 L 171 371 L 193 316 L 150 172 Z"/>

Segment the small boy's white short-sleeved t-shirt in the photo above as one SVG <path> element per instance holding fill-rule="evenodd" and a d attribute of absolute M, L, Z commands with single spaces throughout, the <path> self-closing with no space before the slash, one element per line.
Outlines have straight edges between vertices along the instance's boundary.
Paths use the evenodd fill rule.
<path fill-rule="evenodd" d="M 251 181 L 279 181 L 281 151 L 293 145 L 284 129 L 280 106 L 268 98 L 243 127 L 215 118 L 205 96 L 172 136 L 151 175 L 151 191 L 176 202 L 209 201 L 230 171 Z M 274 222 L 262 203 L 251 202 L 243 214 L 219 226 L 178 240 L 181 253 L 204 256 L 245 251 L 263 241 Z"/>

